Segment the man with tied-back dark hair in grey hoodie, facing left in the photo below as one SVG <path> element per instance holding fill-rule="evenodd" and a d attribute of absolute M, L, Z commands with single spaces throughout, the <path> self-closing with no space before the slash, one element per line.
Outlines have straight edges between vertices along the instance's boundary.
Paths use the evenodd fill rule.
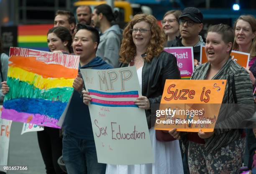
<path fill-rule="evenodd" d="M 93 10 L 92 25 L 99 28 L 101 33 L 96 55 L 117 68 L 122 32 L 118 25 L 111 26 L 111 22 L 115 19 L 115 14 L 107 4 L 98 5 Z"/>

